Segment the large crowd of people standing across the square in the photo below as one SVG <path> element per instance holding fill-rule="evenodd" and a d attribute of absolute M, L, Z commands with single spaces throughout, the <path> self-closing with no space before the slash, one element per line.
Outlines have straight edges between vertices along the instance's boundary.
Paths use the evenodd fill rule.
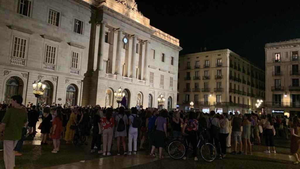
<path fill-rule="evenodd" d="M 275 117 L 270 114 L 259 116 L 255 113 L 242 115 L 238 112 L 229 114 L 216 114 L 214 111 L 210 113 L 168 112 L 166 109 L 143 109 L 142 106 L 131 109 L 124 107 L 113 109 L 100 105 L 70 107 L 38 104 L 34 106 L 32 103 L 23 106 L 20 96 L 12 97 L 10 105 L 1 104 L 0 108 L 0 118 L 3 118 L 0 131 L 4 131 L 6 168 L 14 166 L 14 155 L 22 155 L 20 150 L 26 136 L 35 137 L 39 120 L 41 120 L 38 126 L 41 130 L 41 145 L 47 145 L 49 139 L 53 140 L 52 153 L 59 152 L 61 140 L 72 144 L 74 134 L 80 131 L 80 137 L 85 138 L 83 139 L 85 145 L 88 145 L 88 138 L 91 137 L 91 153 L 111 155 L 116 138 L 117 155 L 136 155 L 139 141 L 139 149 L 144 149 L 144 143 L 147 142 L 145 149 L 151 156 L 159 158 L 164 158 L 162 151 L 167 137 L 184 136 L 188 144 L 195 147 L 197 134 L 203 129 L 207 129 L 207 138 L 216 146 L 219 159 L 226 158 L 226 149 L 231 147 L 231 143 L 233 143 L 233 155 L 252 155 L 252 146 L 260 145 L 262 138 L 265 138 L 265 153 L 276 153 L 274 137 L 288 138 L 288 129 L 290 129 L 291 153 L 295 156 L 295 164 L 300 162 L 299 116 L 289 119 L 286 116 Z M 13 116 L 18 118 L 14 119 Z M 11 118 L 14 119 L 13 122 Z M 7 149 L 13 149 L 14 153 Z M 158 154 L 155 154 L 155 149 L 158 149 Z M 186 158 L 187 154 L 183 159 Z M 198 160 L 196 149 L 193 150 L 193 158 Z"/>

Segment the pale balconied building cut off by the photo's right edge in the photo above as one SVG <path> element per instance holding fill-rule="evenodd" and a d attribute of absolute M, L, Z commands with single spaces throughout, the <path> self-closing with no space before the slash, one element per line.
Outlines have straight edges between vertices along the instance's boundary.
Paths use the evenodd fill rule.
<path fill-rule="evenodd" d="M 265 44 L 267 113 L 300 112 L 299 49 L 298 39 Z"/>

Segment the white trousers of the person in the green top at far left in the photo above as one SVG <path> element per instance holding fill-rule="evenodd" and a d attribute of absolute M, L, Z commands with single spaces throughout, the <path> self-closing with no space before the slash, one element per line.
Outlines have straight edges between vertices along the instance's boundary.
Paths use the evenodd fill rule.
<path fill-rule="evenodd" d="M 4 140 L 4 164 L 6 169 L 13 169 L 15 166 L 15 152 L 13 149 L 16 147 L 18 140 Z"/>

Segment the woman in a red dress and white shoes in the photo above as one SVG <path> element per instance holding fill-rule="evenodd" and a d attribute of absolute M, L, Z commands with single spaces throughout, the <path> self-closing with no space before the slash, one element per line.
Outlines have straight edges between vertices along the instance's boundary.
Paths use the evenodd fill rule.
<path fill-rule="evenodd" d="M 56 117 L 54 118 L 52 122 L 53 130 L 52 130 L 52 139 L 53 139 L 53 153 L 57 153 L 59 151 L 60 146 L 60 137 L 61 137 L 61 131 L 62 131 L 62 115 L 61 115 L 61 109 L 56 110 Z"/>

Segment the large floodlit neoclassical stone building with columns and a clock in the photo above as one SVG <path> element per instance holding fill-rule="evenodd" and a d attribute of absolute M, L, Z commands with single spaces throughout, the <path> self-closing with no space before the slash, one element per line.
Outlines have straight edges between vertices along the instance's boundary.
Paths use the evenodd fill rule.
<path fill-rule="evenodd" d="M 40 103 L 175 108 L 179 40 L 150 25 L 132 0 L 0 0 L 0 100 L 46 84 Z M 168 106 L 167 106 L 168 105 Z"/>

